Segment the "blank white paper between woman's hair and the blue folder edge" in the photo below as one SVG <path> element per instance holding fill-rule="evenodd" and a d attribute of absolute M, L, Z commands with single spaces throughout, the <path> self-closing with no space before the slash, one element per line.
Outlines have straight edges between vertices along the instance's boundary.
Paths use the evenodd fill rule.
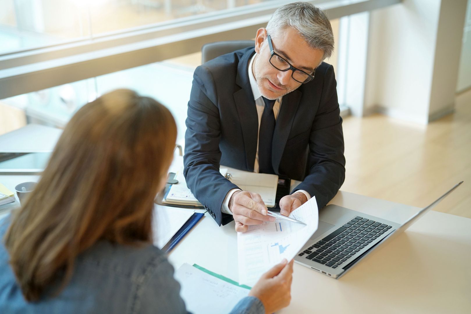
<path fill-rule="evenodd" d="M 154 230 L 154 245 L 159 249 L 179 231 L 195 210 L 181 209 L 170 206 L 154 205 L 152 229 Z"/>

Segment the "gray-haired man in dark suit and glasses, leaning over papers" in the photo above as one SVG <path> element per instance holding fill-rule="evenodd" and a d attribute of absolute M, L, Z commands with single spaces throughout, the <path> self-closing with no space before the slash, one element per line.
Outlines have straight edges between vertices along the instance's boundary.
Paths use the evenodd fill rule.
<path fill-rule="evenodd" d="M 332 65 L 333 33 L 306 2 L 276 10 L 255 47 L 196 68 L 188 102 L 184 174 L 220 225 L 273 221 L 257 193 L 241 191 L 219 165 L 302 181 L 280 200 L 283 215 L 315 196 L 324 207 L 345 178 L 342 119 Z"/>

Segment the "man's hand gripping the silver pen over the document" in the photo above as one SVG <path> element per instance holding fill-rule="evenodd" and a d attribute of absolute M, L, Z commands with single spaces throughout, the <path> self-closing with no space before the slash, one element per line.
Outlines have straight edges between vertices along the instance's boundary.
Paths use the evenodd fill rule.
<path fill-rule="evenodd" d="M 245 232 L 249 225 L 261 225 L 265 221 L 275 221 L 267 215 L 267 207 L 260 194 L 249 191 L 236 191 L 229 201 L 229 209 L 235 220 L 235 231 Z"/>

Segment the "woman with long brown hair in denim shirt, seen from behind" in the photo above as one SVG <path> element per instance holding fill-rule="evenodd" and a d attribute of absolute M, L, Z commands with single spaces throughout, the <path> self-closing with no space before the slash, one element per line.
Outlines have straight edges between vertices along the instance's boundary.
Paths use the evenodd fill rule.
<path fill-rule="evenodd" d="M 167 108 L 127 89 L 73 116 L 35 190 L 0 221 L 0 313 L 187 313 L 152 245 L 176 136 Z M 287 306 L 291 279 L 292 262 L 275 266 L 232 312 Z"/>

